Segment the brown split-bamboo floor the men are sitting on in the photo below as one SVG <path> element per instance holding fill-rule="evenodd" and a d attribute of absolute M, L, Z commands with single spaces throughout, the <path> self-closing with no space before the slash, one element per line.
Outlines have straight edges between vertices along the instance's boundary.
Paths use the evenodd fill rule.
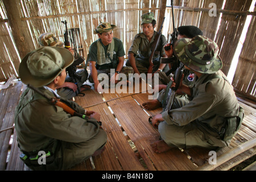
<path fill-rule="evenodd" d="M 21 81 L 1 90 L 0 108 L 0 170 L 29 170 L 19 159 L 20 151 L 16 142 L 14 126 L 14 109 L 19 96 L 26 89 Z M 148 89 L 148 87 L 147 87 Z M 150 90 L 148 90 L 150 92 Z M 147 90 L 134 88 L 133 93 L 103 93 L 94 89 L 84 91 L 85 96 L 76 96 L 75 102 L 88 110 L 101 113 L 102 127 L 108 134 L 106 149 L 98 156 L 69 169 L 71 171 L 191 171 L 208 164 L 209 150 L 190 148 L 183 150 L 174 148 L 163 154 L 155 154 L 150 143 L 159 139 L 158 130 L 148 123 L 148 117 L 160 113 L 162 109 L 144 110 L 142 103 L 148 100 Z M 256 151 L 256 110 L 239 99 L 245 109 L 245 117 L 241 129 L 233 137 L 228 147 L 217 151 L 218 157 L 253 142 L 249 150 L 232 154 L 232 159 L 214 166 L 213 170 L 225 171 L 255 155 Z"/>

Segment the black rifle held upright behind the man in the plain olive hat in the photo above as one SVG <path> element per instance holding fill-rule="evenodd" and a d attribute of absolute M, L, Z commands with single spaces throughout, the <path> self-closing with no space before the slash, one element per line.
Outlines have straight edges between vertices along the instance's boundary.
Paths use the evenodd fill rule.
<path fill-rule="evenodd" d="M 71 48 L 71 43 L 69 42 L 67 20 L 61 21 L 61 23 L 65 24 L 64 46 L 65 46 L 66 49 L 69 49 L 69 48 Z M 75 61 L 68 68 L 66 68 L 66 71 L 68 72 L 68 76 L 71 77 L 72 82 L 77 85 L 76 95 L 79 95 L 80 94 L 80 87 L 77 84 L 77 81 L 81 80 L 81 76 L 77 75 L 76 66 L 81 64 L 84 61 L 84 59 L 82 59 L 81 56 L 80 56 L 80 59 L 76 59 L 77 55 L 78 55 L 78 53 L 76 52 L 76 49 L 75 49 Z M 81 93 L 81 96 L 84 96 L 84 94 Z"/>

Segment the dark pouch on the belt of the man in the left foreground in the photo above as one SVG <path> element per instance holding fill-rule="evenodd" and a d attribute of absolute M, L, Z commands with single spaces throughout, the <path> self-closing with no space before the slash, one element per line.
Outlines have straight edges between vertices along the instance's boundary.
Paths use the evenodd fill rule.
<path fill-rule="evenodd" d="M 46 155 L 39 156 L 40 151 L 26 152 L 20 154 L 19 158 L 32 170 L 35 171 L 45 171 L 47 169 L 51 169 L 47 166 L 53 164 L 54 165 L 54 155 L 52 150 L 42 150 Z M 42 160 L 40 160 L 43 158 Z M 45 163 L 44 163 L 45 162 Z"/>

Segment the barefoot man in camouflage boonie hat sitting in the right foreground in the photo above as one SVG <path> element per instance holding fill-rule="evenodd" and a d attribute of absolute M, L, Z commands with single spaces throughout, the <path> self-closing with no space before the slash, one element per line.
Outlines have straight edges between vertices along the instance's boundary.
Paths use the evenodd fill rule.
<path fill-rule="evenodd" d="M 222 61 L 217 44 L 199 35 L 177 40 L 174 52 L 185 68 L 196 74 L 193 88 L 181 81 L 177 90 L 192 100 L 176 97 L 171 110 L 152 118 L 152 125 L 158 127 L 162 139 L 151 147 L 160 153 L 173 147 L 199 146 L 214 150 L 228 146 L 241 126 L 243 111 L 232 85 L 220 71 Z M 154 102 L 161 105 L 160 100 Z"/>

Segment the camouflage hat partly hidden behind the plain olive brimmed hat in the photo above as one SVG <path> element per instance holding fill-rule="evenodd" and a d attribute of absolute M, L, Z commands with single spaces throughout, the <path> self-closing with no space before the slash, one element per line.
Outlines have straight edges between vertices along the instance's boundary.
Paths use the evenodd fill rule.
<path fill-rule="evenodd" d="M 56 36 L 51 32 L 46 32 L 38 37 L 40 46 L 63 47 L 64 43 L 56 39 Z"/>

